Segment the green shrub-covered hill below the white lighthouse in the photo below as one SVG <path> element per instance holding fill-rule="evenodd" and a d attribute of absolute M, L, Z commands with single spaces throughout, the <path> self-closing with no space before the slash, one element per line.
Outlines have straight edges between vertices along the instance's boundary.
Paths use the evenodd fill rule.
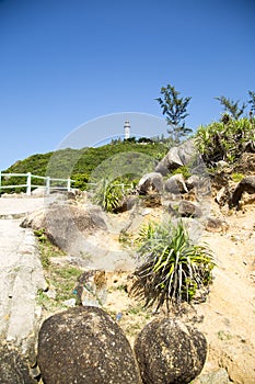
<path fill-rule="evenodd" d="M 37 154 L 19 160 L 3 172 L 50 176 L 76 180 L 74 187 L 85 189 L 86 182 L 98 177 L 136 178 L 151 171 L 166 154 L 162 143 L 117 142 L 97 148 L 66 148 L 55 153 Z M 114 172 L 114 173 L 113 173 Z M 4 180 L 2 184 L 4 184 Z M 21 178 L 11 178 L 8 184 L 20 184 Z"/>

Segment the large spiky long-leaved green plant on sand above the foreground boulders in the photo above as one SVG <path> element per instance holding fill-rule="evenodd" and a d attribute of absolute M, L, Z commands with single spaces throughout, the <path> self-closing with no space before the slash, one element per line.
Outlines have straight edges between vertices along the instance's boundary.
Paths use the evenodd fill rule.
<path fill-rule="evenodd" d="M 193 242 L 182 221 L 176 225 L 149 223 L 138 244 L 142 263 L 135 272 L 131 293 L 144 300 L 146 307 L 157 303 L 158 310 L 164 303 L 169 308 L 170 303 L 190 302 L 211 283 L 212 255 L 207 246 Z"/>

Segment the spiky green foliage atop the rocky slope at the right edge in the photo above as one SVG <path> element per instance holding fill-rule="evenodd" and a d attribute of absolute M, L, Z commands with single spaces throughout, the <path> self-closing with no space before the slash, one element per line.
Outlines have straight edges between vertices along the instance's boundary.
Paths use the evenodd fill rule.
<path fill-rule="evenodd" d="M 235 161 L 254 140 L 255 120 L 246 117 L 200 126 L 195 135 L 195 145 L 209 166 L 219 160 Z"/>

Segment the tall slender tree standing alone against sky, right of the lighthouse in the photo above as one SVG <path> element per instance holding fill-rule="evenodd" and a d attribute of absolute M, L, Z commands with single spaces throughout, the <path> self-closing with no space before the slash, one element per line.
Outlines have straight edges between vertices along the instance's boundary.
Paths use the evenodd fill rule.
<path fill-rule="evenodd" d="M 160 93 L 163 99 L 158 98 L 155 100 L 160 103 L 163 115 L 166 115 L 167 125 L 171 126 L 167 133 L 174 143 L 179 143 L 181 137 L 192 132 L 190 128 L 185 127 L 185 118 L 188 116 L 186 111 L 192 98 L 179 98 L 179 92 L 171 84 L 162 87 Z"/>

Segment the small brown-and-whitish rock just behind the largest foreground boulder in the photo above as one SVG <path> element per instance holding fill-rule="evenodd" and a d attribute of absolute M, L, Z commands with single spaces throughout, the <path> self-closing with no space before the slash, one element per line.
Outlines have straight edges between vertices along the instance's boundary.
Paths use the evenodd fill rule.
<path fill-rule="evenodd" d="M 106 284 L 105 271 L 93 270 L 82 273 L 74 287 L 77 303 L 83 306 L 102 306 L 106 302 Z"/>

